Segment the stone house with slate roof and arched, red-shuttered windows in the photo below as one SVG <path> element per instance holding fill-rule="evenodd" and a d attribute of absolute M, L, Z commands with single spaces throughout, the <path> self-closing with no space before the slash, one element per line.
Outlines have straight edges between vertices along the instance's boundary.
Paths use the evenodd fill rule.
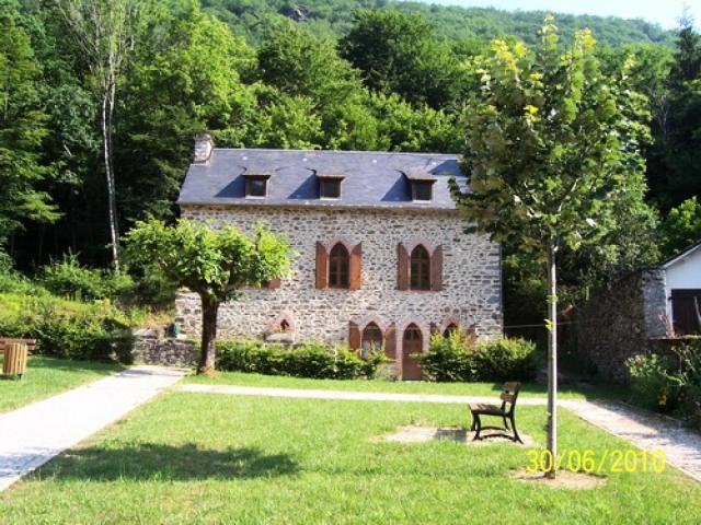
<path fill-rule="evenodd" d="M 432 332 L 502 335 L 501 247 L 466 233 L 448 187 L 458 158 L 432 153 L 216 149 L 196 137 L 179 205 L 185 218 L 258 221 L 287 236 L 292 276 L 221 306 L 220 337 L 382 346 L 404 378 Z M 176 322 L 197 335 L 196 294 Z"/>

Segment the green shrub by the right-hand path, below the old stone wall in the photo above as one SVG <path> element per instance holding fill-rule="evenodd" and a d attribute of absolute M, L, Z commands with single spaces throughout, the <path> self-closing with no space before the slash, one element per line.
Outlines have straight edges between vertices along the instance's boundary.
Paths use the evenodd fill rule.
<path fill-rule="evenodd" d="M 627 365 L 636 405 L 659 412 L 670 412 L 679 406 L 682 381 L 673 372 L 676 365 L 670 355 L 634 355 Z"/>

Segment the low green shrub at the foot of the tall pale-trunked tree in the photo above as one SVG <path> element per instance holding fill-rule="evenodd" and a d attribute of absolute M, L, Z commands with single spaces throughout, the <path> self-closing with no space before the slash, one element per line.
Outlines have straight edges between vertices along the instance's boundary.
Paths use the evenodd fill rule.
<path fill-rule="evenodd" d="M 134 288 L 127 273 L 85 268 L 74 254 L 44 266 L 39 282 L 51 293 L 77 301 L 117 299 Z"/>

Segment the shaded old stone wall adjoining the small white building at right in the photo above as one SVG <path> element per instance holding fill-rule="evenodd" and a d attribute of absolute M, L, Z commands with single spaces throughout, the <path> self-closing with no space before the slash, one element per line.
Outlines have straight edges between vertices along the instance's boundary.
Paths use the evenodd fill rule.
<path fill-rule="evenodd" d="M 652 339 L 666 337 L 665 272 L 632 273 L 593 294 L 577 312 L 577 350 L 597 374 L 627 383 L 625 360 L 648 353 Z"/>

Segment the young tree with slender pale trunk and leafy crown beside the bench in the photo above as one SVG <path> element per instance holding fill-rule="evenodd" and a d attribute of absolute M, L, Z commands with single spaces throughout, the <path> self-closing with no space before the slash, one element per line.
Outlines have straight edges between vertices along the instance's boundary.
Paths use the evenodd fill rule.
<path fill-rule="evenodd" d="M 531 52 L 492 43 L 482 89 L 466 112 L 463 171 L 452 183 L 466 218 L 493 240 L 544 254 L 548 265 L 548 450 L 556 441 L 556 257 L 616 228 L 614 205 L 644 185 L 644 98 L 606 78 L 589 31 L 561 52 L 548 16 Z M 548 472 L 554 476 L 554 465 Z"/>

